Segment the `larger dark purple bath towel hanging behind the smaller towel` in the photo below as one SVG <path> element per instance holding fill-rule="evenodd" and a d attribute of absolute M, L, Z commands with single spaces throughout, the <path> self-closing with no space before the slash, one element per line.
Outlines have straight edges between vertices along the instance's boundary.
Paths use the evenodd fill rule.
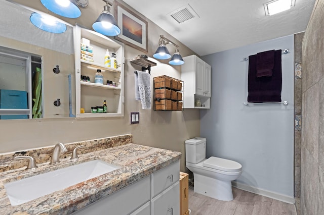
<path fill-rule="evenodd" d="M 248 102 L 281 102 L 281 49 L 274 51 L 272 76 L 256 76 L 257 55 L 249 56 Z"/>

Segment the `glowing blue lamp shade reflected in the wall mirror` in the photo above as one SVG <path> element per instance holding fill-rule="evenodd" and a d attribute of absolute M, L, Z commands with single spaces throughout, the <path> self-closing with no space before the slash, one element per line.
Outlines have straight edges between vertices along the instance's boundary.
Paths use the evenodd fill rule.
<path fill-rule="evenodd" d="M 50 33 L 63 33 L 66 31 L 66 25 L 50 16 L 42 16 L 41 14 L 32 13 L 30 22 L 39 29 Z"/>

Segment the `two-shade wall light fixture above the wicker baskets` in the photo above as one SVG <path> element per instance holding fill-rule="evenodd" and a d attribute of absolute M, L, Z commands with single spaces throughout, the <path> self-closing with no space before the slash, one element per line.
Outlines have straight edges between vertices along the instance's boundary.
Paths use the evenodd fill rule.
<path fill-rule="evenodd" d="M 174 55 L 171 58 L 170 52 L 166 46 L 166 44 L 172 44 L 176 47 L 176 51 Z M 171 65 L 182 65 L 184 64 L 184 61 L 179 53 L 179 45 L 175 44 L 174 42 L 170 41 L 163 35 L 160 35 L 160 38 L 158 39 L 158 48 L 156 49 L 153 57 L 160 60 L 167 60 L 170 59 L 169 64 Z"/>

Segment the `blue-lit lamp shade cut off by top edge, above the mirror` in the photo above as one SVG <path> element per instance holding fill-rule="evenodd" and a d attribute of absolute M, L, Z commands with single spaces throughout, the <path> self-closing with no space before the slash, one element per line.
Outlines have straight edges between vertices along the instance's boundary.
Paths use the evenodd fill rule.
<path fill-rule="evenodd" d="M 71 2 L 72 0 L 41 0 L 41 3 L 53 13 L 67 18 L 81 16 L 80 9 Z"/>

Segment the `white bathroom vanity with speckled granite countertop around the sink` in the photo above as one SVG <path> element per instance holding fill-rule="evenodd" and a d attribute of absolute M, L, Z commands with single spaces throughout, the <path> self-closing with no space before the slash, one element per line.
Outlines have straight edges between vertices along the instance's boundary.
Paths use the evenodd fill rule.
<path fill-rule="evenodd" d="M 180 158 L 180 152 L 130 143 L 81 154 L 76 161 L 37 164 L 35 171 L 6 171 L 0 173 L 0 214 L 179 214 Z M 119 169 L 11 205 L 4 184 L 98 159 Z"/>

